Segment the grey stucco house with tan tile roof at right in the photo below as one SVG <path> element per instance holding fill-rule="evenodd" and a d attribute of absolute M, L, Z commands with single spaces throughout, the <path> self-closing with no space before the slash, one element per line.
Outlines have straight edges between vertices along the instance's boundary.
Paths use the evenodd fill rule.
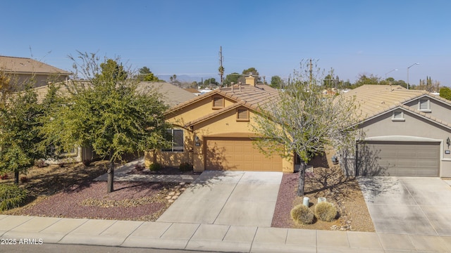
<path fill-rule="evenodd" d="M 347 174 L 451 177 L 451 101 L 401 86 L 364 85 L 356 99 L 364 140 L 342 160 Z"/>

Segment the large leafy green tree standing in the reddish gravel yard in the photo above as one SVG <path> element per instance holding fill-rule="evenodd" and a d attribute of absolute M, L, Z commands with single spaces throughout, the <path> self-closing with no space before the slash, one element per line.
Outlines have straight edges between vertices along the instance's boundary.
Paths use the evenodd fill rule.
<path fill-rule="evenodd" d="M 118 66 L 118 59 L 99 63 L 94 53 L 78 53 L 82 63 L 71 58 L 75 73 L 83 73 L 85 81 L 75 76 L 66 84 L 68 96 L 49 113 L 42 132 L 59 144 L 57 153 L 84 146 L 109 157 L 107 192 L 111 193 L 115 162 L 122 161 L 123 154 L 168 144 L 166 106 L 156 91 L 137 93 L 137 80 L 125 80 L 128 74 L 105 67 Z"/>

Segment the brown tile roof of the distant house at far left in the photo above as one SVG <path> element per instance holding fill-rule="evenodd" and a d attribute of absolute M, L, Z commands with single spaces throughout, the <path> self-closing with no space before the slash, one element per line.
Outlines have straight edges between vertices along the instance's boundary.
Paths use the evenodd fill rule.
<path fill-rule="evenodd" d="M 11 73 L 35 73 L 35 74 L 64 74 L 70 72 L 58 69 L 31 58 L 20 58 L 11 56 L 0 56 L 0 70 Z"/>

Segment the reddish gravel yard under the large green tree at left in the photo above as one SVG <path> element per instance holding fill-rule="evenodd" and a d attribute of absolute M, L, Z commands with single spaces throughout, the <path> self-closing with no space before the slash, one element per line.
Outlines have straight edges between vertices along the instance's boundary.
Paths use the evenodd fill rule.
<path fill-rule="evenodd" d="M 169 207 L 166 196 L 175 186 L 178 184 L 116 182 L 113 193 L 106 193 L 106 182 L 93 182 L 63 190 L 20 214 L 155 221 Z"/>

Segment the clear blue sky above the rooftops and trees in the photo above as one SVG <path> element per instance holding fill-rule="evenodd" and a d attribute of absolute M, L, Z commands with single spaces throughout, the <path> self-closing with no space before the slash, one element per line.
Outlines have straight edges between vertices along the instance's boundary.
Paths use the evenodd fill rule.
<path fill-rule="evenodd" d="M 340 79 L 375 74 L 451 86 L 451 1 L 6 1 L 0 55 L 72 70 L 68 55 L 97 52 L 155 74 L 219 79 L 255 67 L 288 77 L 319 59 Z M 31 48 L 31 52 L 30 52 Z"/>

